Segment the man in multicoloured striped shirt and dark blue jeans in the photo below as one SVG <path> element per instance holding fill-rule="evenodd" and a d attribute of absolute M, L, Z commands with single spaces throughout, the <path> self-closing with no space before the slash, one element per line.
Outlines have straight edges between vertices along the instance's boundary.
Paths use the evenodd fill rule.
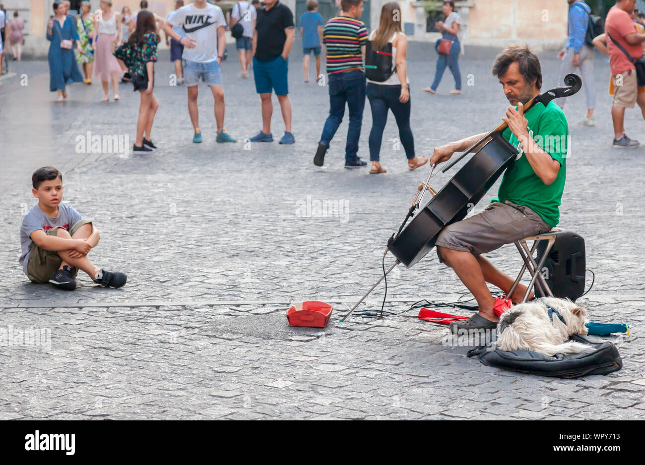
<path fill-rule="evenodd" d="M 363 11 L 362 0 L 341 0 L 341 7 L 340 15 L 327 21 L 324 26 L 330 109 L 313 164 L 323 166 L 324 155 L 341 125 L 347 103 L 350 124 L 345 146 L 345 167 L 358 168 L 367 166 L 367 162 L 362 161 L 357 153 L 365 107 L 363 58 L 368 34 L 365 24 L 359 20 Z"/>

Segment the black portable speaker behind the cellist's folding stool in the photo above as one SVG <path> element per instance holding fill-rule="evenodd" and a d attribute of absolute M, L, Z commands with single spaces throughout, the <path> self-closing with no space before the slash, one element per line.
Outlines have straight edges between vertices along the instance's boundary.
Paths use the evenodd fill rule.
<path fill-rule="evenodd" d="M 536 263 L 540 263 L 547 244 L 546 240 L 538 244 Z M 553 247 L 540 271 L 553 296 L 575 301 L 584 294 L 585 268 L 584 239 L 575 232 L 567 231 L 555 236 Z M 536 286 L 535 296 L 540 295 Z"/>

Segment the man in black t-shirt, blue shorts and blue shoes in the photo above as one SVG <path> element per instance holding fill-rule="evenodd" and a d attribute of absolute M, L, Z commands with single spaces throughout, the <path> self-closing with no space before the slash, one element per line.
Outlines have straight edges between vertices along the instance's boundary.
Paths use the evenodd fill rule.
<path fill-rule="evenodd" d="M 273 142 L 271 94 L 275 90 L 284 120 L 284 136 L 280 143 L 293 144 L 295 138 L 291 133 L 291 100 L 287 81 L 289 52 L 295 40 L 290 8 L 278 0 L 266 1 L 266 5 L 257 10 L 255 31 L 253 78 L 255 91 L 262 101 L 262 130 L 251 138 L 251 142 Z"/>

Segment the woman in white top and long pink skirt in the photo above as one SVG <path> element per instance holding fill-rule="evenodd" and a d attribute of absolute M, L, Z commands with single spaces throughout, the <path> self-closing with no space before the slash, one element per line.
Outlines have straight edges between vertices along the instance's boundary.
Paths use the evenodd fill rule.
<path fill-rule="evenodd" d="M 105 96 L 101 102 L 110 100 L 108 81 L 112 81 L 114 100 L 119 100 L 119 79 L 123 70 L 116 57 L 114 49 L 121 45 L 121 14 L 112 11 L 112 0 L 101 0 L 101 11 L 94 17 L 94 76 L 101 79 Z"/>

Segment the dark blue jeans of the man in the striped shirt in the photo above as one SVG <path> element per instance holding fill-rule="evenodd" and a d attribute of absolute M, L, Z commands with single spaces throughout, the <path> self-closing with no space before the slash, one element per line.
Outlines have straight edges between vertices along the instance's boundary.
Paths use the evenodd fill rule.
<path fill-rule="evenodd" d="M 324 122 L 319 143 L 329 147 L 333 135 L 341 126 L 346 102 L 350 110 L 350 124 L 347 128 L 345 162 L 355 162 L 361 137 L 362 111 L 365 108 L 365 74 L 362 71 L 346 71 L 330 74 L 328 79 L 329 116 Z"/>

